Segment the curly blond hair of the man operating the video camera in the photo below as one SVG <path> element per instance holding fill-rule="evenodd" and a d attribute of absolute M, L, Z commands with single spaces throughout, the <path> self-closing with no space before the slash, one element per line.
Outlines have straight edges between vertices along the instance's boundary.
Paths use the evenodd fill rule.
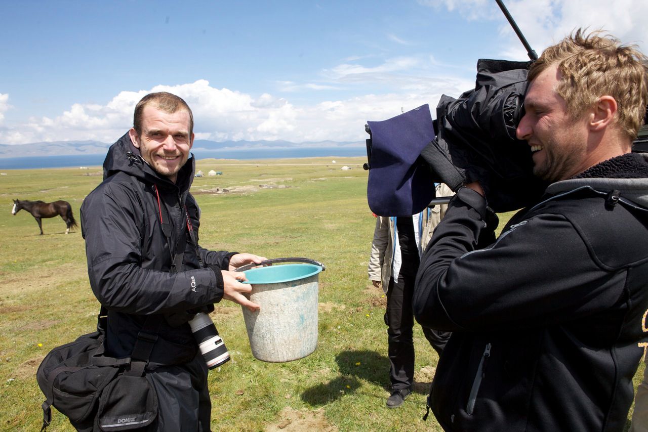
<path fill-rule="evenodd" d="M 648 59 L 635 45 L 621 45 L 602 30 L 584 34 L 579 28 L 548 47 L 529 68 L 531 82 L 551 65 L 562 74 L 556 92 L 573 119 L 592 108 L 599 97 L 609 95 L 618 105 L 616 124 L 635 139 L 648 104 Z"/>

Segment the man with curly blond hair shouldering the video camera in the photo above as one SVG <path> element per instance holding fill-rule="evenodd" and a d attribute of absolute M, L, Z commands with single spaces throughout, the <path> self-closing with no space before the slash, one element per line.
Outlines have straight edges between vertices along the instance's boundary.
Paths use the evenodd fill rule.
<path fill-rule="evenodd" d="M 414 312 L 453 332 L 430 407 L 446 430 L 621 431 L 648 345 L 646 58 L 580 30 L 529 69 L 518 139 L 549 181 L 492 244 L 478 182 L 421 260 Z"/>

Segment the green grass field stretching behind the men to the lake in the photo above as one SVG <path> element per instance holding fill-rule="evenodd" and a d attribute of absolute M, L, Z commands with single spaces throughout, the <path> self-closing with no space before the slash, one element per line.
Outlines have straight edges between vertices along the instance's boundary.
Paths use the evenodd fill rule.
<path fill-rule="evenodd" d="M 332 163 L 335 159 L 336 163 Z M 268 258 L 323 262 L 319 342 L 307 358 L 253 358 L 240 306 L 222 301 L 212 317 L 232 360 L 209 373 L 214 431 L 440 431 L 425 413 L 437 355 L 415 328 L 414 392 L 388 409 L 389 362 L 382 291 L 367 279 L 375 219 L 367 206 L 364 158 L 198 161 L 222 176 L 196 177 L 201 244 Z M 341 166 L 351 170 L 341 170 Z M 98 302 L 87 280 L 80 229 L 65 235 L 60 218 L 43 220 L 43 236 L 12 199 L 69 201 L 79 220 L 101 170 L 6 170 L 0 176 L 0 429 L 37 431 L 43 395 L 36 369 L 52 348 L 91 332 Z M 227 190 L 227 192 L 224 192 Z M 500 227 L 510 214 L 500 215 Z M 636 377 L 640 381 L 643 365 Z M 71 431 L 54 410 L 51 431 Z"/>

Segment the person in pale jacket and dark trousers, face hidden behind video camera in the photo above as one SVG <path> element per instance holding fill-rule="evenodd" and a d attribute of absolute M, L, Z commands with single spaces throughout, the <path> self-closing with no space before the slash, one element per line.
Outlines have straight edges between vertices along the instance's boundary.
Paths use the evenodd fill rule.
<path fill-rule="evenodd" d="M 436 186 L 436 196 L 452 196 L 445 184 Z M 411 298 L 422 252 L 445 214 L 447 205 L 428 207 L 411 217 L 376 218 L 376 228 L 369 258 L 369 279 L 387 295 L 385 324 L 388 326 L 388 356 L 391 394 L 390 408 L 402 405 L 411 392 L 414 379 L 414 318 Z M 397 241 L 395 241 L 397 239 Z M 423 334 L 441 355 L 450 332 L 423 327 Z"/>

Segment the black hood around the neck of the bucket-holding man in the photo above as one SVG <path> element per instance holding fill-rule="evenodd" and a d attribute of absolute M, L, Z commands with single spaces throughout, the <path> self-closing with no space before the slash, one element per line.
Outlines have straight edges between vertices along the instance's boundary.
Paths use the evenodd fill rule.
<path fill-rule="evenodd" d="M 180 190 L 189 190 L 191 183 L 194 179 L 194 170 L 195 170 L 196 160 L 193 153 L 191 157 L 185 163 L 185 166 L 180 168 L 178 172 L 178 179 L 176 179 L 176 186 Z M 129 176 L 137 177 L 149 183 L 156 183 L 158 185 L 163 185 L 168 183 L 173 184 L 165 176 L 160 176 L 157 172 L 151 168 L 148 163 L 142 159 L 139 148 L 133 145 L 133 142 L 128 136 L 128 132 L 111 145 L 106 153 L 106 159 L 104 159 L 104 180 L 108 177 L 111 177 L 117 172 L 124 172 Z"/>

